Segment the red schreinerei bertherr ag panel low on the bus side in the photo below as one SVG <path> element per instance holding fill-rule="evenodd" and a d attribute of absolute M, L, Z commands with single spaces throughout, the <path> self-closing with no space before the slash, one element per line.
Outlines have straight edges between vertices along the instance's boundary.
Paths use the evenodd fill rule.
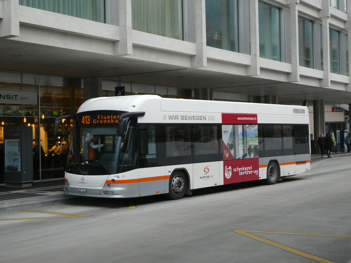
<path fill-rule="evenodd" d="M 258 158 L 223 161 L 224 184 L 259 179 Z"/>

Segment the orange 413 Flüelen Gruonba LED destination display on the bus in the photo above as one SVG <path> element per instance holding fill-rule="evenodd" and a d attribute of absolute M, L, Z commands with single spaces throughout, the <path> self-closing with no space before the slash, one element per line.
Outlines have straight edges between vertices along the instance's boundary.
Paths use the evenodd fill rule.
<path fill-rule="evenodd" d="M 122 112 L 85 112 L 78 114 L 81 126 L 115 125 Z"/>

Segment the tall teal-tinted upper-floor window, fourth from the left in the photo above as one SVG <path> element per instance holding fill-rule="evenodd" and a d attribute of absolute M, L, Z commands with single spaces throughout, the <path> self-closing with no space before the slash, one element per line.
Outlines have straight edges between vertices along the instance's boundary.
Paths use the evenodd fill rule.
<path fill-rule="evenodd" d="M 260 57 L 281 61 L 280 9 L 258 1 Z"/>

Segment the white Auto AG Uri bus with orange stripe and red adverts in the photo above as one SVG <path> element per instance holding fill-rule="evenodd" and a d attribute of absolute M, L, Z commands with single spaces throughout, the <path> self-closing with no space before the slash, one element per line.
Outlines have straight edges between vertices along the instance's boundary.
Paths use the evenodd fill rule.
<path fill-rule="evenodd" d="M 68 118 L 68 195 L 176 200 L 204 187 L 275 184 L 311 168 L 303 106 L 133 95 L 88 100 L 57 118 L 55 130 Z"/>

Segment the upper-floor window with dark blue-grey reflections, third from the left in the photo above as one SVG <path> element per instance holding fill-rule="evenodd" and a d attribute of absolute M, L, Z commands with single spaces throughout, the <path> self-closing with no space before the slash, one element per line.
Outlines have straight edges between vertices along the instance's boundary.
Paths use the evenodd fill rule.
<path fill-rule="evenodd" d="M 206 0 L 207 46 L 239 52 L 238 17 L 238 0 Z"/>

